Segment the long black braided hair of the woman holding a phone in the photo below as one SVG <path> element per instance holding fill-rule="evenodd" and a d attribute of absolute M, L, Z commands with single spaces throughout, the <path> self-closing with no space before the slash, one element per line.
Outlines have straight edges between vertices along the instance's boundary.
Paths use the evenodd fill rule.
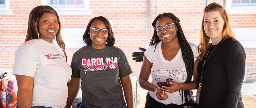
<path fill-rule="evenodd" d="M 190 82 L 191 79 L 192 79 L 193 69 L 194 69 L 194 56 L 193 56 L 192 49 L 191 49 L 190 45 L 188 44 L 188 42 L 185 38 L 185 35 L 182 31 L 182 28 L 181 28 L 181 25 L 180 25 L 180 19 L 178 17 L 176 17 L 175 15 L 173 15 L 172 13 L 159 14 L 157 17 L 155 17 L 155 20 L 153 21 L 152 26 L 154 28 L 156 28 L 156 21 L 160 18 L 163 18 L 163 17 L 170 17 L 171 19 L 173 19 L 174 23 L 176 24 L 176 27 L 177 27 L 177 30 L 178 30 L 177 31 L 177 38 L 178 38 L 178 41 L 179 41 L 179 44 L 180 44 L 180 48 L 181 48 L 181 52 L 182 52 L 182 58 L 183 58 L 183 61 L 185 63 L 186 71 L 187 71 L 187 78 L 186 78 L 185 83 Z M 157 35 L 157 32 L 154 30 L 154 34 L 153 34 L 152 39 L 150 41 L 150 45 L 157 44 L 160 41 L 161 40 L 159 39 L 159 37 Z M 181 92 L 182 103 L 183 103 L 183 94 L 185 95 L 186 106 L 189 106 L 189 104 L 191 104 L 189 102 L 189 99 L 192 97 L 191 93 L 190 93 L 190 91 L 182 90 L 182 92 Z M 193 95 L 193 92 L 192 92 L 192 95 Z M 189 96 L 189 99 L 188 99 L 188 96 Z"/>

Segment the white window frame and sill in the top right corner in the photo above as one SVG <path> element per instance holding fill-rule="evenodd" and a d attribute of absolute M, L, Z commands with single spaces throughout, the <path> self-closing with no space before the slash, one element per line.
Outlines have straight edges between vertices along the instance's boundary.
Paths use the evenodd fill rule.
<path fill-rule="evenodd" d="M 232 6 L 232 0 L 226 0 L 227 14 L 256 14 L 256 6 Z"/>

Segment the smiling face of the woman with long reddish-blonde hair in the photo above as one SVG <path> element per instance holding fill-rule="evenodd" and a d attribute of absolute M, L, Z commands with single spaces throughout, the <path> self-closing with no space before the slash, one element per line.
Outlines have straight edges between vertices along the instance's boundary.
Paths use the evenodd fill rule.
<path fill-rule="evenodd" d="M 204 31 L 212 41 L 222 39 L 224 20 L 218 11 L 207 12 L 204 15 Z"/>

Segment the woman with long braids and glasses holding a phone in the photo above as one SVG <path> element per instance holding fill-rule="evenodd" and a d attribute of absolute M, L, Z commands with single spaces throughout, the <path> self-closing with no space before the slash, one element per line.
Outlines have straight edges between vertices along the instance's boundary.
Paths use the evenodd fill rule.
<path fill-rule="evenodd" d="M 187 42 L 179 22 L 172 13 L 164 13 L 152 23 L 155 30 L 139 75 L 140 86 L 149 90 L 145 108 L 183 108 L 194 104 L 191 89 L 196 89 L 197 72 L 193 72 L 193 66 L 199 53 L 195 44 Z M 158 82 L 171 87 L 159 87 Z"/>

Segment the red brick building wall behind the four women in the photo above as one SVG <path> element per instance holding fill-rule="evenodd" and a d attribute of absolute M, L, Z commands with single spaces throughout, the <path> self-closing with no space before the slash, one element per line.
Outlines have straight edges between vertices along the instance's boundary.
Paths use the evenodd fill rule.
<path fill-rule="evenodd" d="M 217 0 L 208 0 L 207 4 L 211 2 L 217 2 Z M 222 2 L 223 0 L 220 0 L 221 5 Z M 41 5 L 41 0 L 10 0 L 13 15 L 0 15 L 0 68 L 12 70 L 15 51 L 25 40 L 29 12 L 38 5 Z M 132 60 L 132 52 L 139 51 L 138 47 L 148 47 L 146 45 L 146 0 L 91 0 L 90 9 L 92 15 L 60 15 L 62 27 L 85 28 L 90 19 L 96 16 L 113 20 L 115 46 L 125 52 L 134 72 L 132 75 L 136 75 L 141 63 Z M 187 40 L 198 45 L 203 9 L 204 0 L 151 0 L 151 23 L 156 15 L 171 12 L 181 20 Z M 256 14 L 229 15 L 229 18 L 232 27 L 256 27 Z M 151 35 L 153 31 L 151 27 Z M 69 64 L 76 50 L 78 48 L 66 49 Z M 256 74 L 248 74 L 250 71 L 256 71 L 256 48 L 245 49 L 245 52 L 247 81 L 256 81 Z"/>

